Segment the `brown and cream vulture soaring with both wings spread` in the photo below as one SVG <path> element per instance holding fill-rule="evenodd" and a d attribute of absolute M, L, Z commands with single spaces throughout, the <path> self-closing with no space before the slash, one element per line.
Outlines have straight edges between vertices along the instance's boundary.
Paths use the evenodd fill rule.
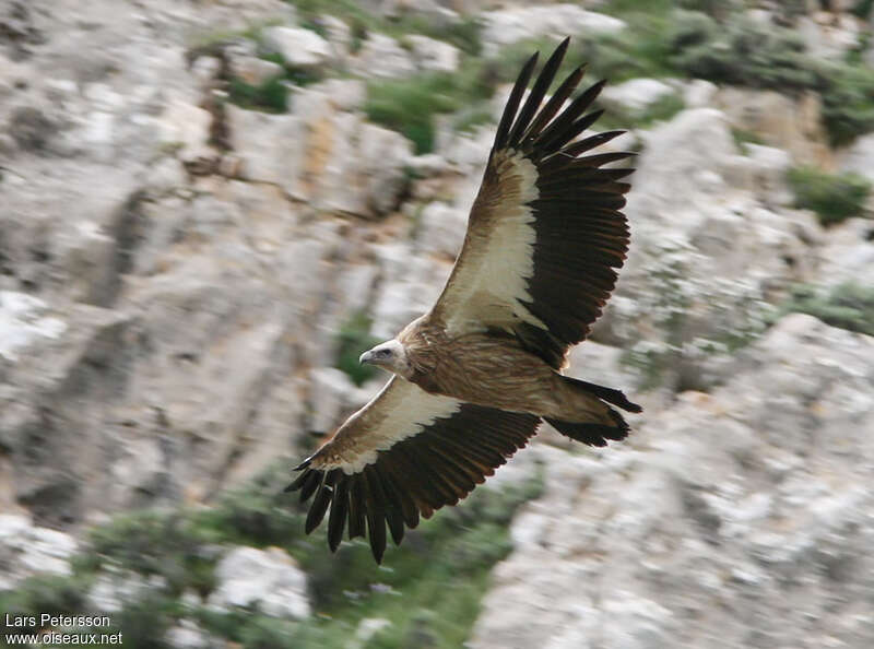
<path fill-rule="evenodd" d="M 525 446 L 541 422 L 592 446 L 624 439 L 623 392 L 564 376 L 568 349 L 601 315 L 628 249 L 622 178 L 588 154 L 625 131 L 584 139 L 600 81 L 569 101 L 584 66 L 546 99 L 565 39 L 525 97 L 538 61 L 510 92 L 461 252 L 434 307 L 361 356 L 393 376 L 295 470 L 286 491 L 328 515 L 328 545 L 367 535 L 377 563 L 420 516 L 456 505 Z M 524 99 L 524 101 L 523 101 Z M 544 102 L 544 99 L 546 99 Z M 615 408 L 614 408 L 615 406 Z"/>

